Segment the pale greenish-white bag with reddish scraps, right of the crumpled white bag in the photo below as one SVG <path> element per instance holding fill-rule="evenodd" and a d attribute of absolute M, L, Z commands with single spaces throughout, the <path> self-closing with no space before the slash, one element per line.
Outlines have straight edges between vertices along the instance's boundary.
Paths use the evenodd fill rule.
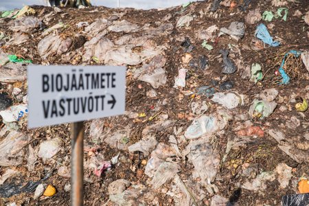
<path fill-rule="evenodd" d="M 249 108 L 249 115 L 250 117 L 264 119 L 264 117 L 269 117 L 273 113 L 276 106 L 276 102 L 267 102 L 264 100 L 255 99 Z"/>

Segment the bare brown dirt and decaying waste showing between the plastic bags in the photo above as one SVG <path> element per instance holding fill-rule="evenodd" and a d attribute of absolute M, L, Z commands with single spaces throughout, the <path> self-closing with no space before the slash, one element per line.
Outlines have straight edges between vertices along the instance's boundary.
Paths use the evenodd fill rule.
<path fill-rule="evenodd" d="M 236 1 L 238 5 L 242 1 Z M 290 83 L 286 85 L 277 84 L 277 76 L 275 71 L 279 69 L 282 58 L 290 49 L 297 51 L 306 51 L 309 46 L 308 25 L 305 23 L 301 16 L 304 16 L 309 9 L 309 1 L 287 1 L 288 4 L 284 5 L 288 8 L 287 21 L 281 18 L 273 19 L 271 22 L 260 20 L 257 23 L 249 25 L 245 23 L 244 37 L 239 41 L 234 40 L 229 35 L 216 36 L 215 42 L 209 42 L 213 45 L 214 49 L 208 51 L 203 48 L 201 44 L 203 40 L 197 38 L 198 31 L 206 30 L 211 25 L 221 27 L 228 27 L 233 21 L 244 22 L 244 17 L 247 16 L 249 11 L 258 8 L 262 14 L 265 10 L 277 11 L 277 8 L 282 6 L 272 5 L 272 1 L 252 1 L 247 10 L 242 11 L 237 6 L 231 8 L 229 6 L 220 5 L 216 12 L 212 14 L 209 12 L 211 2 L 199 1 L 191 3 L 186 8 L 177 6 L 165 10 L 135 10 L 132 8 L 111 9 L 104 7 L 93 7 L 84 9 L 73 8 L 60 8 L 61 11 L 54 14 L 45 23 L 46 27 L 52 27 L 56 23 L 62 22 L 65 27 L 60 30 L 55 30 L 54 33 L 60 35 L 61 38 L 71 38 L 73 43 L 67 51 L 63 54 L 50 54 L 47 58 L 43 58 L 38 52 L 38 42 L 43 39 L 42 31 L 36 29 L 31 32 L 25 32 L 29 40 L 19 45 L 6 45 L 5 41 L 0 41 L 1 50 L 5 54 L 17 54 L 25 59 L 32 60 L 34 65 L 105 65 L 104 62 L 98 62 L 93 59 L 85 62 L 83 61 L 84 43 L 90 41 L 94 35 L 84 32 L 84 28 L 78 28 L 76 25 L 80 22 L 88 22 L 89 24 L 97 21 L 98 19 L 117 19 L 115 21 L 126 20 L 130 23 L 138 25 L 140 28 L 148 27 L 157 28 L 163 23 L 171 23 L 173 25 L 170 31 L 161 31 L 162 34 L 154 35 L 151 41 L 155 42 L 158 47 L 163 45 L 162 55 L 166 58 L 166 63 L 163 69 L 167 75 L 167 81 L 163 86 L 155 89 L 157 96 L 150 98 L 146 94 L 152 90 L 152 86 L 147 82 L 137 80 L 134 78 L 136 69 L 141 68 L 144 64 L 151 61 L 150 59 L 144 60 L 137 65 L 126 65 L 127 78 L 126 78 L 126 111 L 130 113 L 140 114 L 146 113 L 146 117 L 130 117 L 130 115 L 120 115 L 117 117 L 108 117 L 100 119 L 102 125 L 102 138 L 100 141 L 93 141 L 91 136 L 91 123 L 92 121 L 85 122 L 85 146 L 88 148 L 96 148 L 95 154 L 100 154 L 104 160 L 109 161 L 116 155 L 119 155 L 118 163 L 112 165 L 111 169 L 104 172 L 101 177 L 95 176 L 91 168 L 85 168 L 84 176 L 84 205 L 117 205 L 109 200 L 108 185 L 117 179 L 126 179 L 130 181 L 131 185 L 144 185 L 144 189 L 139 192 L 136 197 L 135 203 L 128 203 L 128 205 L 178 205 L 175 203 L 175 198 L 170 196 L 167 191 L 172 191 L 172 180 L 166 181 L 159 189 L 152 188 L 152 178 L 144 174 L 146 165 L 144 160 L 148 161 L 150 155 L 145 155 L 143 152 L 128 152 L 127 147 L 139 142 L 143 139 L 142 131 L 147 126 L 158 123 L 159 121 L 173 120 L 172 126 L 163 130 L 158 130 L 155 133 L 155 138 L 158 142 L 169 144 L 170 135 L 174 135 L 175 128 L 183 128 L 184 130 L 192 124 L 192 120 L 198 117 L 191 111 L 190 105 L 194 101 L 206 101 L 208 110 L 205 115 L 216 113 L 220 109 L 220 105 L 211 102 L 211 98 L 205 95 L 195 95 L 192 98 L 192 93 L 195 93 L 196 88 L 205 85 L 214 85 L 216 92 L 220 92 L 219 84 L 225 80 L 233 81 L 233 88 L 231 91 L 245 95 L 244 104 L 229 110 L 233 117 L 239 114 L 248 114 L 251 102 L 255 99 L 255 95 L 261 93 L 264 89 L 275 88 L 279 94 L 275 99 L 277 107 L 275 111 L 264 119 L 247 117 L 242 120 L 233 119 L 227 122 L 227 125 L 218 133 L 211 136 L 211 146 L 214 150 L 218 151 L 220 156 L 220 164 L 216 179 L 211 182 L 216 185 L 217 189 L 214 194 L 223 196 L 234 205 L 280 205 L 282 196 L 286 194 L 298 193 L 297 183 L 301 176 L 309 177 L 309 149 L 308 139 L 305 139 L 305 134 L 309 132 L 309 111 L 299 113 L 295 111 L 295 102 L 291 99 L 301 96 L 308 99 L 308 83 L 309 76 L 305 65 L 301 62 L 300 58 L 290 58 L 286 61 L 289 64 L 286 71 L 290 76 Z M 43 6 L 32 6 L 36 11 L 34 16 L 38 19 L 44 19 L 45 15 L 54 12 L 54 8 L 47 8 Z M 295 12 L 299 10 L 300 16 L 295 16 Z M 189 14 L 194 16 L 189 26 L 176 27 L 176 23 L 181 16 Z M 171 15 L 170 19 L 165 16 Z M 166 20 L 168 19 L 168 20 Z M 4 32 L 5 36 L 13 36 L 14 32 L 9 29 L 14 19 L 5 18 L 0 19 L 0 31 Z M 273 24 L 272 29 L 269 29 L 271 36 L 279 40 L 281 45 L 279 47 L 269 47 L 262 45 L 262 49 L 254 50 L 253 41 L 257 40 L 255 37 L 255 30 L 257 25 L 264 23 L 269 26 Z M 167 34 L 163 34 L 167 32 Z M 132 38 L 146 35 L 147 30 L 138 30 L 130 32 Z M 218 31 L 215 32 L 218 34 Z M 126 35 L 126 32 L 107 32 L 104 35 L 112 42 L 118 38 Z M 185 37 L 190 39 L 194 49 L 189 53 L 192 58 L 196 59 L 199 56 L 205 55 L 208 59 L 207 69 L 195 69 L 182 60 L 185 56 L 183 46 L 181 43 Z M 232 74 L 223 74 L 222 70 L 222 57 L 219 54 L 220 49 L 231 49 L 230 58 L 236 62 L 240 59 L 238 71 Z M 135 48 L 138 49 L 138 48 Z M 239 53 L 237 52 L 239 49 Z M 76 52 L 78 51 L 78 52 Z M 242 70 L 245 66 L 253 63 L 262 65 L 262 73 L 264 79 L 258 83 L 250 81 L 248 78 L 242 78 Z M 186 68 L 186 86 L 183 89 L 175 88 L 175 77 L 178 76 L 180 68 Z M 2 68 L 1 68 L 2 69 Z M 216 83 L 214 84 L 214 80 Z M 27 81 L 21 83 L 1 83 L 1 93 L 8 93 L 13 99 L 13 104 L 20 104 L 16 98 L 10 94 L 10 87 L 19 87 L 23 94 L 27 93 Z M 187 93 L 190 95 L 187 95 Z M 222 92 L 222 91 L 221 91 Z M 228 91 L 227 91 L 228 92 Z M 165 102 L 165 104 L 163 104 Z M 281 106 L 286 107 L 285 111 L 280 110 Z M 159 114 L 158 118 L 152 121 L 144 121 L 149 117 Z M 164 119 L 160 115 L 167 115 L 168 118 Z M 299 124 L 296 126 L 288 127 L 289 120 L 292 117 L 299 119 Z M 161 118 L 161 119 L 160 119 Z M 163 120 L 162 120 L 163 119 Z M 227 143 L 238 138 L 235 128 L 240 124 L 250 120 L 254 126 L 260 126 L 264 131 L 263 137 L 256 137 L 249 135 L 249 141 L 242 146 L 231 148 L 226 155 L 225 161 L 223 157 L 226 154 Z M 108 135 L 112 135 L 119 130 L 126 130 L 130 128 L 129 141 L 126 148 L 120 150 L 115 148 L 104 139 Z M 278 147 L 278 142 L 269 135 L 268 130 L 272 128 L 280 128 L 286 139 L 293 139 L 296 137 L 302 138 L 299 140 L 301 144 L 307 144 L 304 148 L 304 154 L 308 155 L 305 161 L 295 161 L 296 158 L 291 158 L 282 149 Z M 0 129 L 5 129 L 5 124 L 0 122 Z M 65 191 L 65 185 L 70 182 L 69 178 L 65 178 L 58 174 L 60 166 L 67 166 L 70 168 L 70 129 L 69 124 L 62 124 L 60 126 L 49 126 L 38 129 L 27 129 L 27 121 L 19 122 L 19 131 L 28 134 L 31 137 L 29 143 L 36 151 L 42 141 L 60 137 L 63 140 L 63 146 L 60 152 L 50 161 L 43 161 L 38 159 L 35 165 L 35 170 L 32 172 L 27 170 L 25 166 L 27 163 L 27 151 L 25 152 L 25 159 L 21 165 L 10 166 L 14 170 L 19 170 L 19 176 L 12 176 L 5 183 L 27 183 L 28 181 L 38 181 L 46 174 L 52 171 L 52 176 L 45 181 L 47 184 L 52 184 L 56 187 L 56 194 L 52 197 L 41 197 L 36 200 L 32 198 L 33 192 L 23 193 L 12 196 L 10 198 L 0 198 L 0 205 L 8 205 L 9 203 L 16 203 L 16 205 L 69 205 L 70 192 Z M 254 136 L 254 137 L 253 137 Z M 4 137 L 0 137 L 0 140 Z M 178 139 L 177 139 L 178 141 Z M 186 142 L 179 142 L 179 150 L 185 150 L 187 144 L 192 141 L 186 139 Z M 296 140 L 295 140 L 296 141 Z M 288 141 L 290 142 L 290 140 Z M 296 143 L 295 143 L 296 144 Z M 27 147 L 26 147 L 27 148 Z M 150 151 L 151 152 L 151 151 Z M 84 152 L 85 162 L 91 159 L 89 152 Z M 178 175 L 183 182 L 192 181 L 192 172 L 194 165 L 188 161 L 187 157 L 174 157 L 174 161 L 178 163 L 180 169 Z M 279 163 L 285 163 L 292 169 L 292 176 L 288 182 L 287 187 L 280 187 L 280 182 L 275 178 L 273 181 L 266 181 L 266 189 L 264 190 L 246 190 L 243 185 L 247 180 L 253 180 L 261 172 L 269 172 L 276 169 Z M 249 176 L 244 175 L 244 168 L 249 165 L 252 168 Z M 0 176 L 7 167 L 0 166 Z M 199 180 L 193 179 L 193 182 L 198 185 Z M 1 185 L 0 185 L 1 186 Z M 193 190 L 193 189 L 192 189 Z M 194 189 L 199 194 L 204 191 L 205 197 L 198 200 L 197 205 L 210 205 L 211 198 L 214 194 L 208 192 L 205 185 L 200 184 Z M 150 196 L 152 194 L 152 196 Z M 134 202 L 134 201 L 133 201 Z M 193 203 L 192 203 L 193 204 Z M 126 205 L 126 204 L 124 204 Z"/>

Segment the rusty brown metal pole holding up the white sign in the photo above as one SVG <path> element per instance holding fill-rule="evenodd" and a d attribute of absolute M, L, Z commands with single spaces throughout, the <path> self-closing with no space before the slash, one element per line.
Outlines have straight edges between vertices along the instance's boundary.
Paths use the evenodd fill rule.
<path fill-rule="evenodd" d="M 71 205 L 84 205 L 84 123 L 71 124 Z"/>

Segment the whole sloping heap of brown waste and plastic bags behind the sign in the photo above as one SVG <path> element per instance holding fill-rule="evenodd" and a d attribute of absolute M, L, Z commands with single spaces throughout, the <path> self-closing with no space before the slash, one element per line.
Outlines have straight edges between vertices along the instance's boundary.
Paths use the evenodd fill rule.
<path fill-rule="evenodd" d="M 84 205 L 308 204 L 308 9 L 2 12 L 0 205 L 70 203 L 71 125 L 27 129 L 31 64 L 127 68 L 126 113 L 84 123 Z"/>

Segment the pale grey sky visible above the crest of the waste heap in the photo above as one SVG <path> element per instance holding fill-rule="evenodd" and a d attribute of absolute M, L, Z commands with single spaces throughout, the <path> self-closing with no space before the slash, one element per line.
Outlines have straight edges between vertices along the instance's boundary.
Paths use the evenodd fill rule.
<path fill-rule="evenodd" d="M 181 5 L 190 0 L 119 0 L 120 7 L 137 9 L 168 8 L 174 5 Z M 191 0 L 192 1 L 192 0 Z M 26 2 L 26 3 L 25 3 Z M 110 8 L 117 7 L 117 0 L 91 0 L 93 5 L 104 5 Z M 23 5 L 45 5 L 45 0 L 0 0 L 0 11 L 22 8 Z"/>

